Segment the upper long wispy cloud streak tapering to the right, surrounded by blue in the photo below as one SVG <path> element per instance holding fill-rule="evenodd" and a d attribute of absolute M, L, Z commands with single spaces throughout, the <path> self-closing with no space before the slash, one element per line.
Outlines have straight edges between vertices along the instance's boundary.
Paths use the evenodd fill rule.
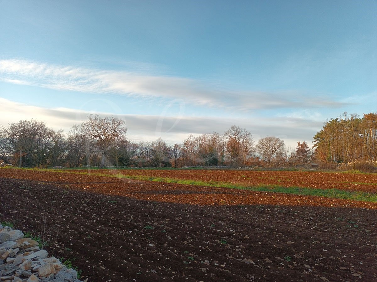
<path fill-rule="evenodd" d="M 184 99 L 204 105 L 236 111 L 278 108 L 337 108 L 343 102 L 305 93 L 228 91 L 204 82 L 172 76 L 152 76 L 127 71 L 43 64 L 20 59 L 0 60 L 2 80 L 61 91 L 97 94 L 121 94 L 132 97 Z"/>

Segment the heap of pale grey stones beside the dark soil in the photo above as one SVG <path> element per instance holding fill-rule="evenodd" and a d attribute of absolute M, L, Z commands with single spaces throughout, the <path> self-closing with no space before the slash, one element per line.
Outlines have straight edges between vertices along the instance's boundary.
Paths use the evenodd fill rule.
<path fill-rule="evenodd" d="M 1 282 L 82 282 L 74 269 L 48 257 L 37 241 L 23 237 L 20 230 L 0 224 Z"/>

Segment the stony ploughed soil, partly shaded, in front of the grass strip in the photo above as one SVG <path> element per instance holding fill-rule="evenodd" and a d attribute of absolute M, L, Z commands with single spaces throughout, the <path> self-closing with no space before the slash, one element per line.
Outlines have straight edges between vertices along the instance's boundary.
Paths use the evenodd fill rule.
<path fill-rule="evenodd" d="M 89 281 L 377 280 L 375 203 L 17 169 L 0 200 Z"/>

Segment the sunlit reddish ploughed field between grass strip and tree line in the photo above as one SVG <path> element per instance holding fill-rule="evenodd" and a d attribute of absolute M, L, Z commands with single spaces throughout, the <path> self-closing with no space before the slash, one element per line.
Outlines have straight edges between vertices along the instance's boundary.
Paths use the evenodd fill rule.
<path fill-rule="evenodd" d="M 77 170 L 78 172 L 83 170 Z M 202 181 L 221 181 L 245 186 L 279 185 L 377 193 L 377 174 L 325 173 L 317 171 L 250 170 L 117 170 L 124 175 L 171 177 Z M 114 173 L 92 170 L 92 173 Z"/>

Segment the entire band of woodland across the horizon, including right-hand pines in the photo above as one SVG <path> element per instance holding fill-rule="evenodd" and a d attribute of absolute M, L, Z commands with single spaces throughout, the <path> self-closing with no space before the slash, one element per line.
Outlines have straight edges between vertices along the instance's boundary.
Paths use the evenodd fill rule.
<path fill-rule="evenodd" d="M 331 118 L 313 137 L 313 146 L 297 142 L 287 149 L 284 141 L 267 136 L 254 141 L 246 129 L 233 125 L 220 134 L 187 136 L 177 144 L 161 138 L 133 142 L 124 121 L 116 117 L 89 115 L 67 134 L 43 121 L 21 120 L 2 126 L 0 159 L 20 167 L 292 167 L 308 166 L 313 160 L 331 165 L 377 161 L 377 113 L 343 113 Z M 1 161 L 0 161 L 1 162 Z"/>

